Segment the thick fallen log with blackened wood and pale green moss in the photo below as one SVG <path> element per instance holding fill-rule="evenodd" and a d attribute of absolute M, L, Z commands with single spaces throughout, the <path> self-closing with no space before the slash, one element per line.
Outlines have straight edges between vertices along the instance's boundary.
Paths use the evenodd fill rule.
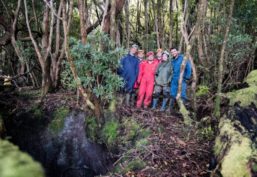
<path fill-rule="evenodd" d="M 243 87 L 227 94 L 230 99 L 221 117 L 213 146 L 217 166 L 211 176 L 257 176 L 257 70 Z"/>

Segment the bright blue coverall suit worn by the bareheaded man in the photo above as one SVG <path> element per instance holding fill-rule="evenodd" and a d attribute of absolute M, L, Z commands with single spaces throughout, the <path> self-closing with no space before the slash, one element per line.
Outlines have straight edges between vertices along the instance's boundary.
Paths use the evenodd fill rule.
<path fill-rule="evenodd" d="M 173 67 L 173 75 L 171 80 L 171 86 L 170 86 L 170 97 L 176 99 L 177 91 L 178 91 L 178 79 L 179 79 L 179 73 L 180 73 L 180 66 L 182 64 L 182 60 L 184 58 L 184 55 L 178 54 L 178 58 L 175 59 L 172 58 L 172 67 Z M 186 68 L 183 74 L 182 79 L 182 91 L 181 91 L 181 98 L 186 99 L 186 86 L 187 83 L 185 81 L 185 78 L 190 78 L 191 76 L 192 67 L 189 62 L 189 60 L 186 61 Z"/>

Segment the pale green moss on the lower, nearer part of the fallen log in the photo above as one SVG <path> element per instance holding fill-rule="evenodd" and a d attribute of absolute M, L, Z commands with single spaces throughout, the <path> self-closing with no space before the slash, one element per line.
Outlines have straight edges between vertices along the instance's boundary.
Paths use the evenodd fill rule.
<path fill-rule="evenodd" d="M 221 175 L 222 176 L 249 176 L 248 159 L 257 153 L 256 148 L 251 148 L 251 139 L 247 136 L 247 130 L 240 124 L 237 128 L 223 116 L 219 123 L 219 136 L 213 146 L 214 156 L 222 157 Z M 237 131 L 237 129 L 240 130 Z M 227 148 L 229 151 L 227 152 Z"/>

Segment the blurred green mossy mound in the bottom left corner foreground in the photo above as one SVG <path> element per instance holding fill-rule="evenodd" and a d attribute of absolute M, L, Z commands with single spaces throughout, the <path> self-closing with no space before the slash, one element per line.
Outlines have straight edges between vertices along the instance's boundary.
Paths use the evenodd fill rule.
<path fill-rule="evenodd" d="M 0 139 L 0 176 L 34 177 L 45 176 L 40 163 L 27 153 L 19 151 L 18 146 Z"/>

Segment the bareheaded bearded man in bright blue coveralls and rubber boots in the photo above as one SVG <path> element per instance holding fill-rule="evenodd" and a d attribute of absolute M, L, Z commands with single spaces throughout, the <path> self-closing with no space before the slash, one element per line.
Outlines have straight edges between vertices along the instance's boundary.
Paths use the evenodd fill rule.
<path fill-rule="evenodd" d="M 184 58 L 184 55 L 181 55 L 180 53 L 178 53 L 177 47 L 171 47 L 170 53 L 173 56 L 173 59 L 171 62 L 173 67 L 173 75 L 172 75 L 171 86 L 170 86 L 170 102 L 169 102 L 168 109 L 166 109 L 166 112 L 169 112 L 173 108 L 173 103 L 176 99 L 177 91 L 178 91 L 178 79 L 179 79 L 179 73 L 180 73 L 180 66 Z M 188 81 L 190 80 L 191 71 L 192 71 L 191 64 L 189 60 L 187 60 L 185 71 L 183 74 L 183 79 L 182 79 L 182 91 L 181 91 L 181 100 L 184 106 L 186 106 L 186 98 L 187 98 L 186 86 Z"/>

